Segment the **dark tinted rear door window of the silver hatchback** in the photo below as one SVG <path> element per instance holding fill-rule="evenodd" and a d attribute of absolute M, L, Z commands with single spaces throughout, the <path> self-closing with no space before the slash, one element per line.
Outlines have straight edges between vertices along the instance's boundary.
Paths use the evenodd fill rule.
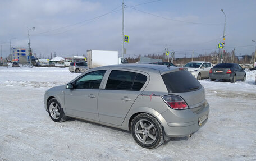
<path fill-rule="evenodd" d="M 139 91 L 146 81 L 147 76 L 140 73 L 113 70 L 109 75 L 105 89 Z"/>

